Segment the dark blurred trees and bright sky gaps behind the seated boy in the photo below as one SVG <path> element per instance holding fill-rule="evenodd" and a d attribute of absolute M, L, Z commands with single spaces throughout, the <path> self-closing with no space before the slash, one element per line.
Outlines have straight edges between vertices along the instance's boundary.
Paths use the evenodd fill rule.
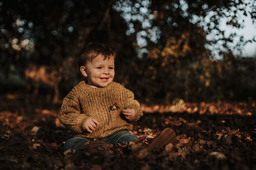
<path fill-rule="evenodd" d="M 77 57 L 94 41 L 115 50 L 115 81 L 141 103 L 255 100 L 255 6 L 245 0 L 0 1 L 0 92 L 61 101 L 82 80 Z"/>

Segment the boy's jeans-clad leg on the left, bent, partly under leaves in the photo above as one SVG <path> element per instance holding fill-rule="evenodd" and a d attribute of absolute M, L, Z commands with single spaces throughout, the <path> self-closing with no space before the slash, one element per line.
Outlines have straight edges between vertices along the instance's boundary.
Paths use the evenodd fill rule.
<path fill-rule="evenodd" d="M 81 148 L 81 146 L 83 146 L 83 144 L 86 143 L 86 141 L 92 141 L 92 139 L 83 138 L 83 137 L 75 137 L 75 138 L 68 139 L 65 145 L 63 146 L 63 150 L 66 151 L 69 149 L 76 149 L 76 153 L 81 152 L 79 148 Z"/>

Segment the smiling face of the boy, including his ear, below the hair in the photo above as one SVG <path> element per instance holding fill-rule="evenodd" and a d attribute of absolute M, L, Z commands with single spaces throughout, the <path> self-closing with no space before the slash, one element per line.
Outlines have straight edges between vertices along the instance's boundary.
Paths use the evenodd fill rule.
<path fill-rule="evenodd" d="M 93 87 L 106 87 L 115 77 L 115 59 L 105 59 L 98 55 L 92 62 L 87 62 L 85 67 L 80 67 L 81 73 L 87 77 L 88 85 Z"/>

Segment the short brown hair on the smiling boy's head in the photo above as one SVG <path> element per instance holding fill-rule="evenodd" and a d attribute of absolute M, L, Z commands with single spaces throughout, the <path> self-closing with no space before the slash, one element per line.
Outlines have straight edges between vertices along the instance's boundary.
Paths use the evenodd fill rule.
<path fill-rule="evenodd" d="M 115 58 L 115 52 L 108 45 L 89 43 L 81 52 L 78 66 L 81 67 L 84 66 L 86 62 L 92 62 L 98 55 L 102 55 L 104 60 L 109 59 L 110 57 Z"/>

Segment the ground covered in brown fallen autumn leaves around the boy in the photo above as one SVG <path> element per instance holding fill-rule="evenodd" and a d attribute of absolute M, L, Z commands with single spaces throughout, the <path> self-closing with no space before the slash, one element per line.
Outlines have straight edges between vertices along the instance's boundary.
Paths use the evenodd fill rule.
<path fill-rule="evenodd" d="M 41 99 L 42 98 L 42 99 Z M 22 94 L 1 95 L 0 169 L 255 169 L 255 102 L 184 103 L 145 106 L 134 123 L 140 141 L 102 147 L 100 153 L 62 152 L 72 137 L 56 115 L 60 104 L 44 97 L 24 102 Z M 132 152 L 145 147 L 164 128 L 177 133 L 177 145 L 145 157 Z"/>

